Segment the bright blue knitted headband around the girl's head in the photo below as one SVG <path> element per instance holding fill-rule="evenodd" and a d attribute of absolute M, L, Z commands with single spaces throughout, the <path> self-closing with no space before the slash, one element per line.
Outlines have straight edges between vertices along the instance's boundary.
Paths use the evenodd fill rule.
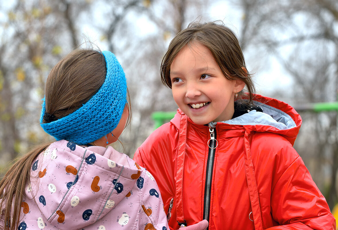
<path fill-rule="evenodd" d="M 56 140 L 88 144 L 112 132 L 119 123 L 127 102 L 126 78 L 115 55 L 110 51 L 102 54 L 107 69 L 104 83 L 81 108 L 55 121 L 42 123 L 46 110 L 43 98 L 40 125 Z"/>

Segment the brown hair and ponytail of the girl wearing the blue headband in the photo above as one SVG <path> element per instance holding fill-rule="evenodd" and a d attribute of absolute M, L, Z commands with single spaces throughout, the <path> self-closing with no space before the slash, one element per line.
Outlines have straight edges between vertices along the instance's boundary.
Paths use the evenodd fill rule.
<path fill-rule="evenodd" d="M 61 59 L 48 75 L 45 89 L 46 113 L 55 116 L 56 120 L 74 112 L 99 90 L 105 80 L 105 75 L 106 63 L 100 51 L 93 49 L 73 50 Z M 127 101 L 130 117 L 128 91 Z M 44 119 L 43 122 L 48 121 Z M 36 146 L 26 153 L 10 167 L 2 178 L 0 182 L 0 221 L 4 223 L 4 229 L 18 228 L 21 202 L 30 180 L 32 163 L 50 144 Z"/>

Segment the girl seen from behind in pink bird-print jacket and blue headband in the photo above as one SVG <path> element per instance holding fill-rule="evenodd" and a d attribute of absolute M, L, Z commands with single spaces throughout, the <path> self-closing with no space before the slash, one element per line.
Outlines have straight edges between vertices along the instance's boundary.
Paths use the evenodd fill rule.
<path fill-rule="evenodd" d="M 47 78 L 40 119 L 56 141 L 24 155 L 2 179 L 0 228 L 169 229 L 154 177 L 106 147 L 118 140 L 129 110 L 113 53 L 78 49 L 59 61 Z"/>

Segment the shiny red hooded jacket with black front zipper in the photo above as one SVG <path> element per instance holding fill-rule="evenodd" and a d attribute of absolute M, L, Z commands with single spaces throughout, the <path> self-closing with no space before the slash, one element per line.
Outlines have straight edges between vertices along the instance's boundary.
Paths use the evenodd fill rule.
<path fill-rule="evenodd" d="M 264 113 L 210 123 L 214 128 L 178 110 L 136 151 L 134 160 L 154 176 L 166 212 L 173 201 L 171 229 L 202 219 L 209 220 L 209 230 L 336 229 L 292 147 L 299 114 L 276 99 L 257 95 L 255 101 Z"/>

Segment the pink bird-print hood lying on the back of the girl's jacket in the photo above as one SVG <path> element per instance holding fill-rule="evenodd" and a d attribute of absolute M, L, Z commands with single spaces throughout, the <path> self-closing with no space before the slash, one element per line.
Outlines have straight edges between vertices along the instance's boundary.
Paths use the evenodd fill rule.
<path fill-rule="evenodd" d="M 142 169 L 111 146 L 104 151 L 114 161 L 66 140 L 39 155 L 32 165 L 29 196 L 49 223 L 61 230 L 68 229 L 65 223 L 81 229 L 128 197 Z"/>

